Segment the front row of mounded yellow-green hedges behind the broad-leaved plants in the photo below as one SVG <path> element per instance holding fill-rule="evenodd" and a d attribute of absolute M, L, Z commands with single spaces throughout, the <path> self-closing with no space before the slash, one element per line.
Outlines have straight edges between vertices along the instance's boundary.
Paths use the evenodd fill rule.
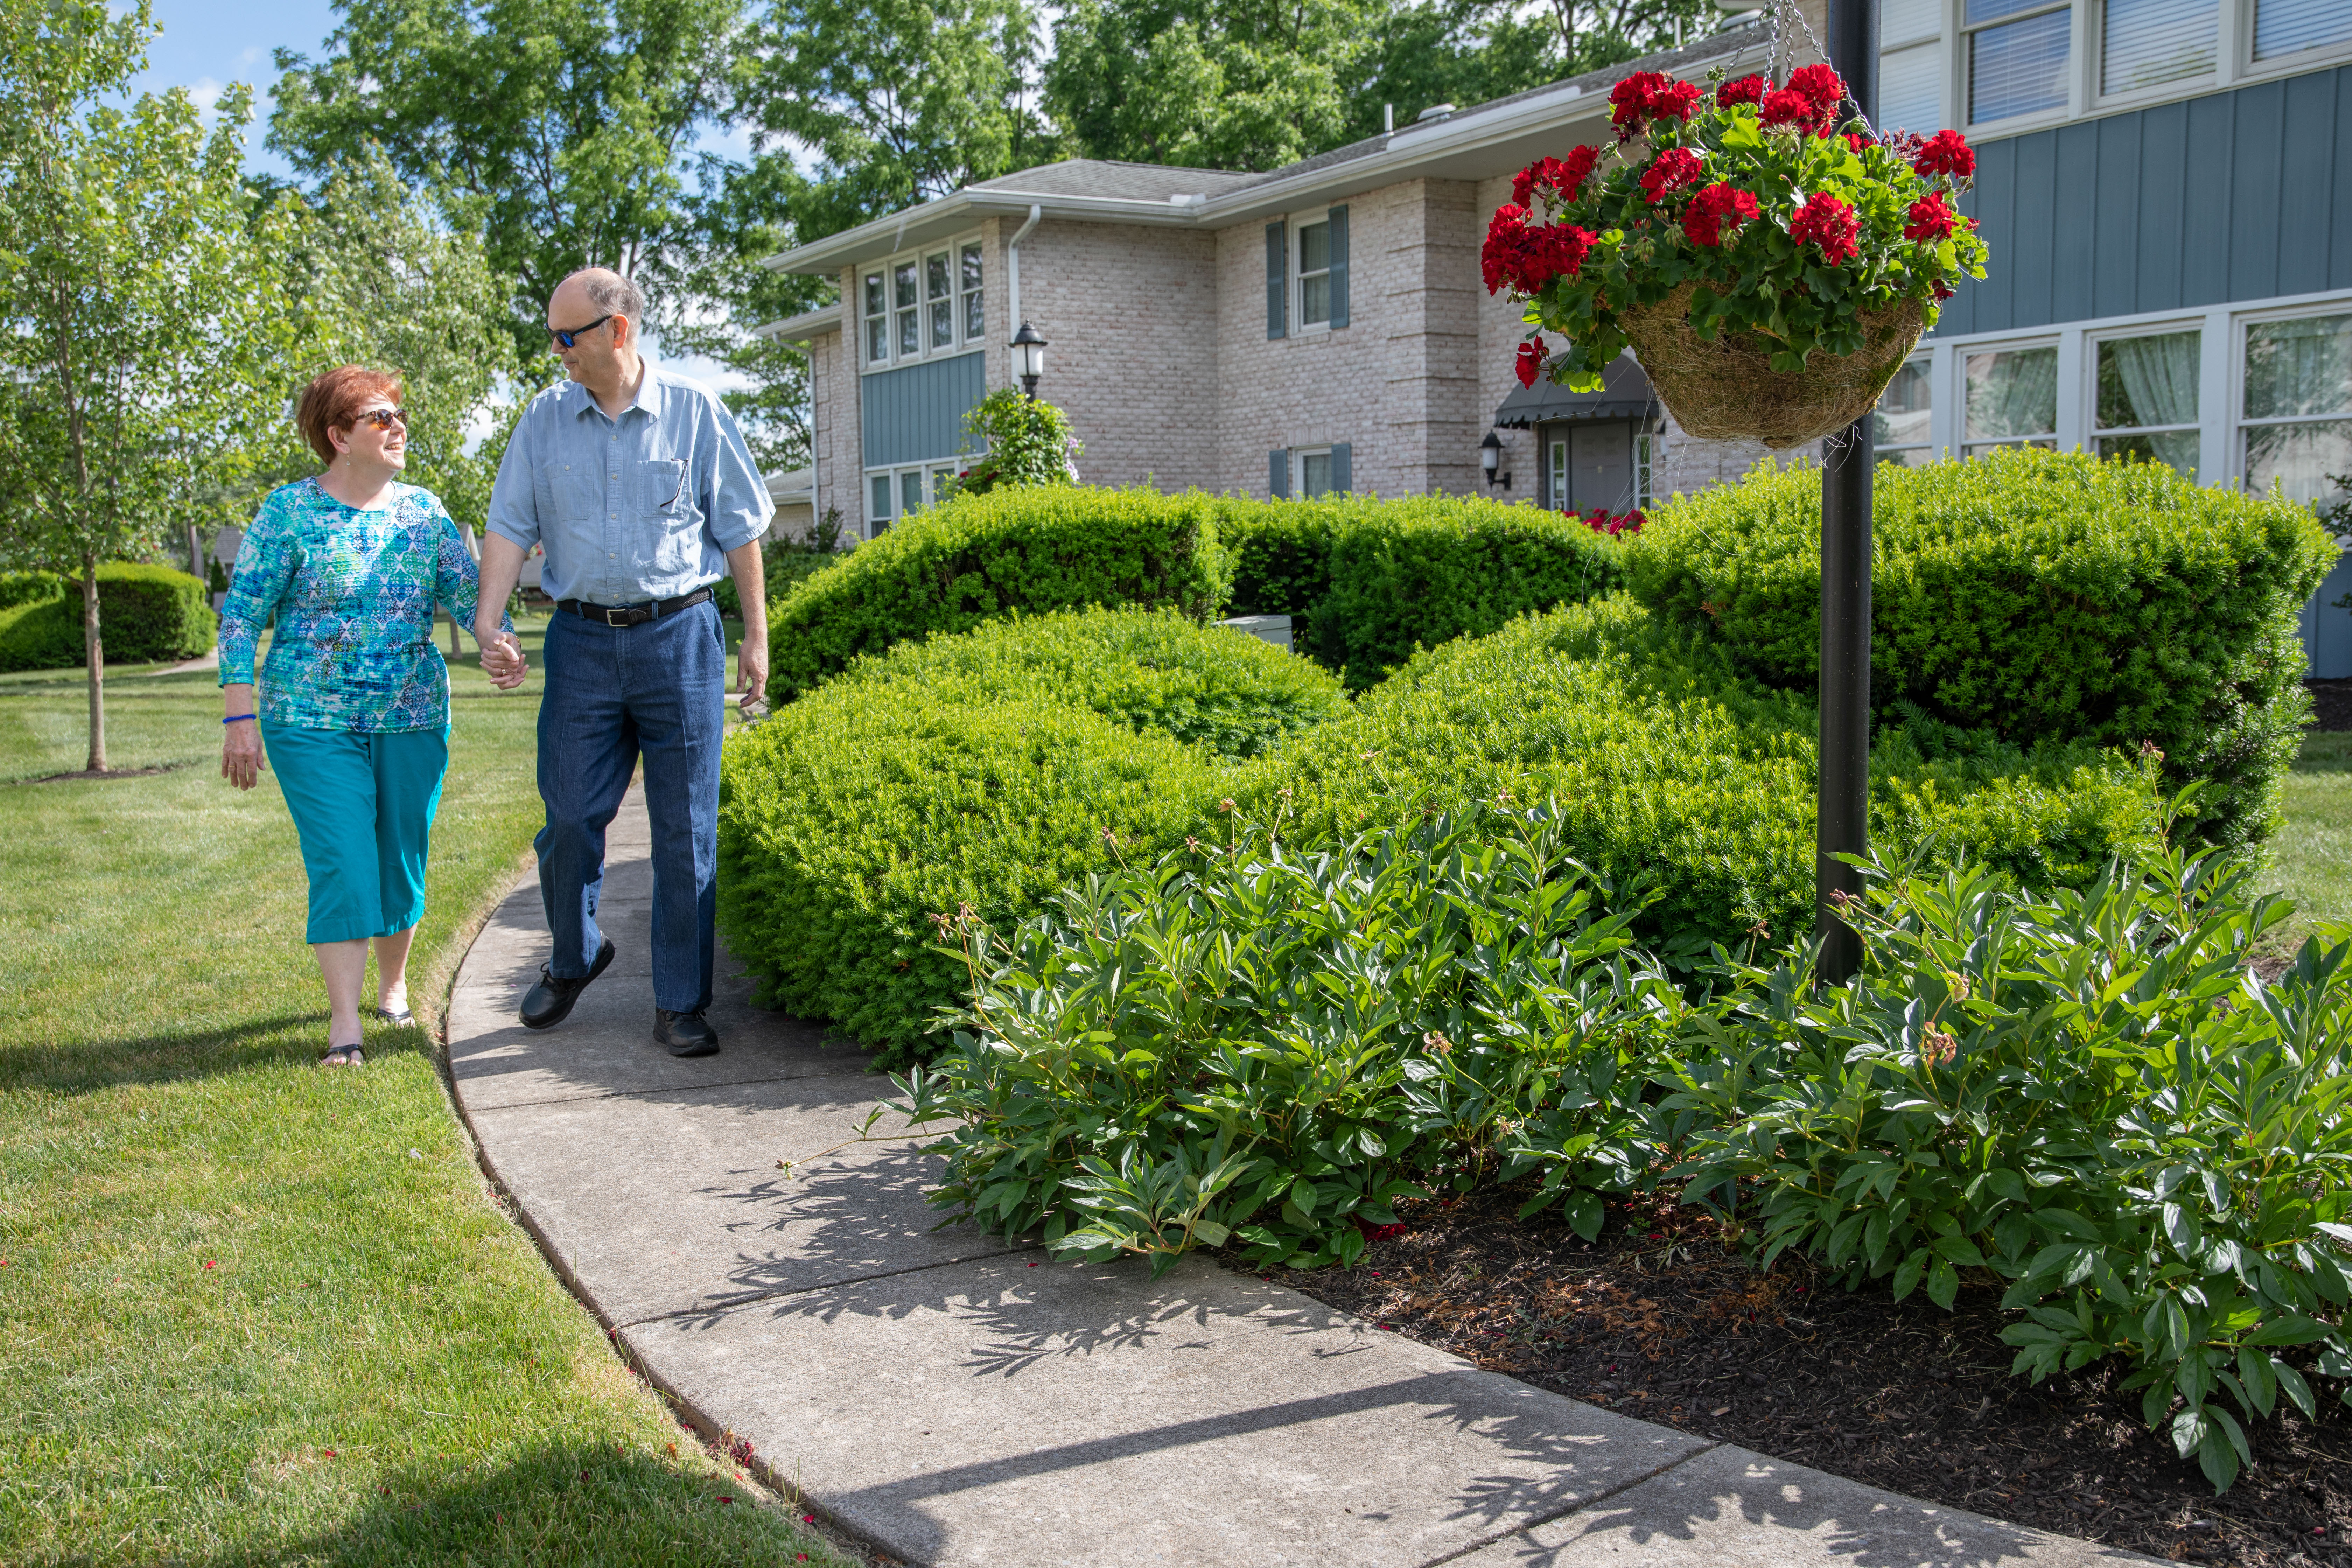
<path fill-rule="evenodd" d="M 1811 926 L 1813 729 L 1811 701 L 1623 595 L 1421 654 L 1352 708 L 1305 661 L 1176 616 L 1016 621 L 861 663 L 727 745 L 720 922 L 771 1001 L 889 1065 L 969 985 L 936 914 L 1023 919 L 1221 839 L 1228 799 L 1305 844 L 1508 792 L 1557 802 L 1571 853 L 1658 893 L 1644 936 L 1778 938 Z M 2086 882 L 2154 818 L 2147 776 L 2089 745 L 1922 724 L 1872 757 L 1889 856 Z"/>

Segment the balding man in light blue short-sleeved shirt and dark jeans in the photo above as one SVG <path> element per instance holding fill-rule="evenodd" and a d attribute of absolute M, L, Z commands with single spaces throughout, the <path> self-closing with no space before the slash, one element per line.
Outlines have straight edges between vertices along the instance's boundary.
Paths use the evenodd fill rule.
<path fill-rule="evenodd" d="M 612 964 L 597 931 L 604 827 L 644 759 L 654 827 L 654 1039 L 670 1056 L 710 1056 L 703 1020 L 717 875 L 720 738 L 727 731 L 727 635 L 708 583 L 720 562 L 743 599 L 736 672 L 743 705 L 767 686 L 767 583 L 760 536 L 771 503 L 734 416 L 703 386 L 637 353 L 644 299 L 604 268 L 564 277 L 548 336 L 569 381 L 532 400 L 489 494 L 482 604 L 485 668 L 520 670 L 499 611 L 532 545 L 555 599 L 548 684 L 539 703 L 539 893 L 555 952 L 522 999 L 522 1023 L 550 1030 Z"/>

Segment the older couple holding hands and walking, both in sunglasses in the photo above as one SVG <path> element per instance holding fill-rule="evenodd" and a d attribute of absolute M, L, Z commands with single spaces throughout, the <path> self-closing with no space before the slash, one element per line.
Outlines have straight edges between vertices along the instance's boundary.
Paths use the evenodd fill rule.
<path fill-rule="evenodd" d="M 522 999 L 546 1030 L 612 964 L 597 931 L 604 827 L 644 764 L 654 837 L 654 1039 L 710 1056 L 720 741 L 727 635 L 708 583 L 743 599 L 743 705 L 767 684 L 760 536 L 771 505 L 734 416 L 640 353 L 644 301 L 588 268 L 548 301 L 569 381 L 522 411 L 499 461 L 475 567 L 442 503 L 400 484 L 407 416 L 395 374 L 343 364 L 303 390 L 296 423 L 325 473 L 261 503 L 221 609 L 221 773 L 278 771 L 310 877 L 308 943 L 327 983 L 329 1067 L 358 1065 L 360 992 L 376 950 L 376 1018 L 409 1023 L 409 940 L 449 769 L 449 672 L 435 607 L 470 618 L 492 684 L 524 677 L 506 602 L 532 545 L 555 599 L 539 703 L 539 893 L 555 950 Z M 275 623 L 254 679 L 261 630 Z"/>

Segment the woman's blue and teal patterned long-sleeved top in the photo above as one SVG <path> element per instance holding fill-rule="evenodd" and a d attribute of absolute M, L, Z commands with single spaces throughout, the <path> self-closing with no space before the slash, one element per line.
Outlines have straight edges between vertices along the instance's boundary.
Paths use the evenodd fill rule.
<path fill-rule="evenodd" d="M 238 548 L 221 604 L 221 684 L 254 679 L 254 646 L 275 618 L 261 668 L 263 719 L 440 729 L 449 722 L 449 668 L 433 646 L 433 607 L 473 625 L 477 592 L 473 555 L 433 491 L 393 484 L 390 505 L 362 512 L 318 480 L 285 484 Z"/>

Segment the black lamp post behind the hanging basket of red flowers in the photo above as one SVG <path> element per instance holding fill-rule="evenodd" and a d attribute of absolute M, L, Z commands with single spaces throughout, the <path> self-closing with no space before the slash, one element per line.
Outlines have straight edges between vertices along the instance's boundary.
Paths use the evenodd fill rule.
<path fill-rule="evenodd" d="M 1879 108 L 1879 9 L 1830 0 L 1830 66 L 1863 115 Z M 1851 980 L 1863 938 L 1839 903 L 1863 875 L 1837 856 L 1870 846 L 1870 470 L 1872 414 L 1823 442 L 1820 465 L 1820 809 L 1813 846 L 1813 936 L 1820 978 Z"/>

